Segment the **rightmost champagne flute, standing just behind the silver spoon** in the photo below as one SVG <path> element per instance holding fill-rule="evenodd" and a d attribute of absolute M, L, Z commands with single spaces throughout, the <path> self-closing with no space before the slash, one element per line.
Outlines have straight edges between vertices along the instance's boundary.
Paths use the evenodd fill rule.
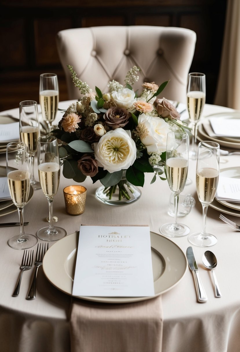
<path fill-rule="evenodd" d="M 202 203 L 202 232 L 189 236 L 190 243 L 200 247 L 209 247 L 217 243 L 214 235 L 206 232 L 207 210 L 214 200 L 219 179 L 219 144 L 203 141 L 198 144 L 196 186 L 199 201 Z"/>

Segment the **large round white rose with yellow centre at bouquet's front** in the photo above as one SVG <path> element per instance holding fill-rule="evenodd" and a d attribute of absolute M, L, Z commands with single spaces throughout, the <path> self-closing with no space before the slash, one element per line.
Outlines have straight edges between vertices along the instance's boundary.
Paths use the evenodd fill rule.
<path fill-rule="evenodd" d="M 94 143 L 94 152 L 99 166 L 112 173 L 128 169 L 136 159 L 137 148 L 131 132 L 119 127 Z"/>

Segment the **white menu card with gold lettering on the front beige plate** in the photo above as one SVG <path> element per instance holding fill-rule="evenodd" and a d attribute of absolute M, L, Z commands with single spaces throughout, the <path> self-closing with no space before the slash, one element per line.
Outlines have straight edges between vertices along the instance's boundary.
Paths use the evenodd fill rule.
<path fill-rule="evenodd" d="M 154 296 L 149 226 L 81 225 L 74 296 Z"/>

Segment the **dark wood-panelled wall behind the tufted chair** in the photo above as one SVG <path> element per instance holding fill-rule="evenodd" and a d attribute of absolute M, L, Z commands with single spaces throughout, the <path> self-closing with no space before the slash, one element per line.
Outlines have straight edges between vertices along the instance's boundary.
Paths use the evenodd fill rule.
<path fill-rule="evenodd" d="M 38 102 L 39 75 L 45 72 L 58 75 L 59 99 L 67 100 L 56 34 L 74 27 L 103 25 L 174 26 L 195 31 L 197 43 L 190 71 L 206 74 L 206 102 L 213 103 L 226 1 L 1 0 L 0 111 L 18 107 L 22 100 Z"/>

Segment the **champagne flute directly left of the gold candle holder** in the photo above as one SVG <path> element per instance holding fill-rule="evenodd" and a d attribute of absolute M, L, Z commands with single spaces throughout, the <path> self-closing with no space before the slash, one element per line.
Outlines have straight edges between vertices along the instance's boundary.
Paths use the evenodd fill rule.
<path fill-rule="evenodd" d="M 67 233 L 61 227 L 54 227 L 52 202 L 57 193 L 60 180 L 60 160 L 57 138 L 51 135 L 38 138 L 38 175 L 44 195 L 49 205 L 49 227 L 43 227 L 37 232 L 37 237 L 44 241 L 56 241 Z"/>

